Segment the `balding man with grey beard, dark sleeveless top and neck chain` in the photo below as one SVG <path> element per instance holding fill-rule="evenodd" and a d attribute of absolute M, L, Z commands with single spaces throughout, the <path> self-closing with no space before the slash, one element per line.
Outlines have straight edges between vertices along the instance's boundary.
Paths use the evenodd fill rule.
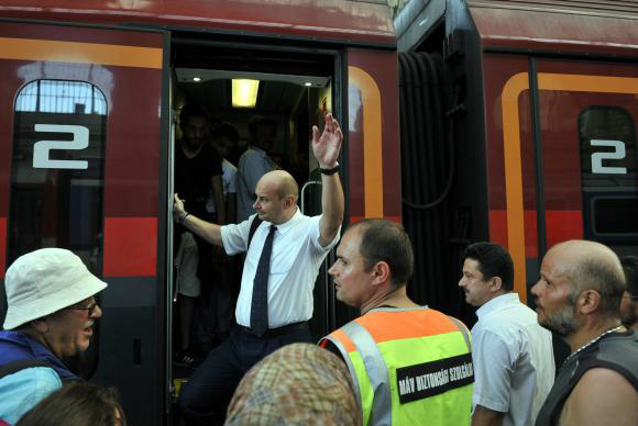
<path fill-rule="evenodd" d="M 620 323 L 625 276 L 618 257 L 593 242 L 552 247 L 531 289 L 538 322 L 572 352 L 536 426 L 638 425 L 638 337 Z"/>

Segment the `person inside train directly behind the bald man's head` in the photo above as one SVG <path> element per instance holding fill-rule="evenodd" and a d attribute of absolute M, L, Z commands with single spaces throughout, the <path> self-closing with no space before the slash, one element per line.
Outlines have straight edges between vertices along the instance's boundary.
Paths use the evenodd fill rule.
<path fill-rule="evenodd" d="M 262 176 L 277 168 L 271 158 L 273 143 L 277 135 L 276 123 L 255 115 L 249 122 L 249 133 L 251 134 L 249 148 L 238 162 L 238 222 L 243 222 L 255 214 L 253 203 L 257 182 Z"/>

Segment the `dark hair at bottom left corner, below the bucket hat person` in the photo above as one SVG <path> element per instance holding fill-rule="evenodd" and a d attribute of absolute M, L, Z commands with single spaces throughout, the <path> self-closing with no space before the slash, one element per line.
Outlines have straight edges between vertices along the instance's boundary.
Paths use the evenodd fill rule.
<path fill-rule="evenodd" d="M 64 385 L 26 412 L 15 426 L 127 426 L 118 391 L 86 382 Z"/>

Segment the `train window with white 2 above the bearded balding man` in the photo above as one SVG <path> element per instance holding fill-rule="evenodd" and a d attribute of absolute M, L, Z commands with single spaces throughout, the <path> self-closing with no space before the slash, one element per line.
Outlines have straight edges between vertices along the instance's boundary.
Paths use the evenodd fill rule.
<path fill-rule="evenodd" d="M 631 115 L 590 107 L 579 116 L 586 237 L 638 234 L 638 155 Z"/>

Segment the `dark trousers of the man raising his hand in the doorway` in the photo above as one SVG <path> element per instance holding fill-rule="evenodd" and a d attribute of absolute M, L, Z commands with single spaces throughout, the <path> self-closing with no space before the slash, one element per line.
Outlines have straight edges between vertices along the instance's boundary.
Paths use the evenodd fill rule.
<path fill-rule="evenodd" d="M 208 354 L 179 393 L 179 410 L 189 426 L 223 425 L 228 405 L 243 375 L 268 354 L 293 343 L 314 343 L 308 323 L 268 330 L 258 337 L 239 325 Z"/>

